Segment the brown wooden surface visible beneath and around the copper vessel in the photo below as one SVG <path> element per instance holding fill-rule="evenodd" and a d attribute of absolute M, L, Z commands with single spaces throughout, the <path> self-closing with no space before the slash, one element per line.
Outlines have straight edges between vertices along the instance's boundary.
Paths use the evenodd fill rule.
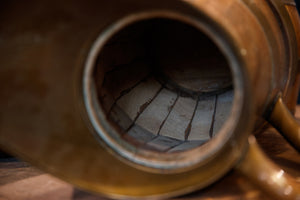
<path fill-rule="evenodd" d="M 296 115 L 300 115 L 300 107 Z M 300 177 L 300 155 L 272 128 L 257 135 L 258 143 L 265 152 L 288 173 Z M 0 162 L 0 199 L 63 199 L 63 200 L 105 200 L 78 190 L 68 183 L 40 172 L 24 162 Z M 268 199 L 235 171 L 212 186 L 177 200 L 235 200 Z"/>

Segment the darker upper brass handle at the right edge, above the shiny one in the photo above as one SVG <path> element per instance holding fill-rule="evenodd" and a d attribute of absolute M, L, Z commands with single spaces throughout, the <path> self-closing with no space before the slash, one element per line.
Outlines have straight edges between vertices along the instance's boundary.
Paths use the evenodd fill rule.
<path fill-rule="evenodd" d="M 300 124 L 290 113 L 281 97 L 277 99 L 268 121 L 295 147 L 295 149 L 300 151 Z"/>

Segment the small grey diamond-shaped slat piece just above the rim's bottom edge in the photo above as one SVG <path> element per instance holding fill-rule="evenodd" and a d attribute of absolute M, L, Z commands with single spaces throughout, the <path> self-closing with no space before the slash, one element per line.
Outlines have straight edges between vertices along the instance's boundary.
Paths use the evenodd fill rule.
<path fill-rule="evenodd" d="M 156 151 L 167 151 L 172 147 L 179 145 L 180 143 L 182 143 L 182 141 L 159 135 L 148 142 L 145 148 L 154 149 Z"/>

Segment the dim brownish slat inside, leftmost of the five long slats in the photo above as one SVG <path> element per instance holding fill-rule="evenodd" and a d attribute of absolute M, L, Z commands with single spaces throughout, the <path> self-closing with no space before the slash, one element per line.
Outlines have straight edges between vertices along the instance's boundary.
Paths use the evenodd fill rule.
<path fill-rule="evenodd" d="M 159 92 L 160 88 L 161 85 L 155 79 L 149 78 L 122 96 L 116 104 L 131 120 L 135 120 Z"/>

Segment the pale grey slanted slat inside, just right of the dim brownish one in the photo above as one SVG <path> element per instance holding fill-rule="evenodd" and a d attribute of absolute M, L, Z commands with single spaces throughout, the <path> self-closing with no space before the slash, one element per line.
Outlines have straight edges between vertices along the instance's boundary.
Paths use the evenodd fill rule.
<path fill-rule="evenodd" d="M 175 92 L 167 89 L 161 90 L 157 97 L 138 117 L 136 124 L 153 134 L 158 134 L 176 98 L 177 94 Z"/>

